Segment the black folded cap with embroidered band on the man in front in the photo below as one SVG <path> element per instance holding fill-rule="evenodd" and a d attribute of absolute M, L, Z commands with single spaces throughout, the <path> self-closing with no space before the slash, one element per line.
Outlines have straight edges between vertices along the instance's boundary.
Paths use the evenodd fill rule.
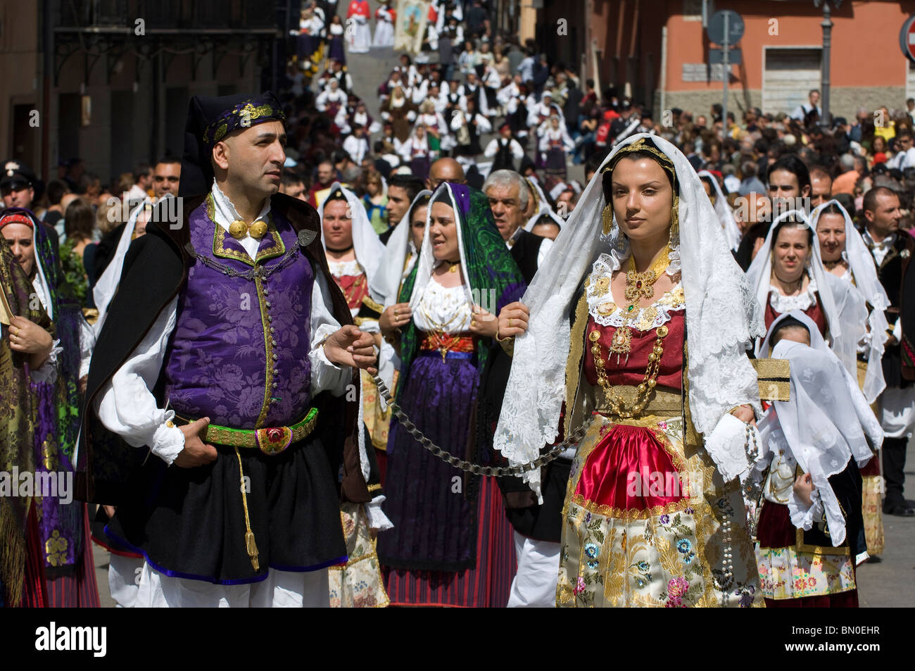
<path fill-rule="evenodd" d="M 181 160 L 178 195 L 208 193 L 213 181 L 210 163 L 213 146 L 234 131 L 267 121 L 285 122 L 285 114 L 273 92 L 193 96 L 188 104 L 188 121 L 184 127 L 184 157 Z"/>

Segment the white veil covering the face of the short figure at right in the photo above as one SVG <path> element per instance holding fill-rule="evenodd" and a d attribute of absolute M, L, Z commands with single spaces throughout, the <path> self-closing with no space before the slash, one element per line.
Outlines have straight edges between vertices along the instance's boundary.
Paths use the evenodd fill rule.
<path fill-rule="evenodd" d="M 814 487 L 809 508 L 791 492 L 791 524 L 809 530 L 825 513 L 829 536 L 837 547 L 845 541 L 845 516 L 829 478 L 844 471 L 852 458 L 859 467 L 864 466 L 873 457 L 867 441 L 874 449 L 879 448 L 883 431 L 858 389 L 856 377 L 819 337 L 813 319 L 801 310 L 780 315 L 772 322 L 767 344 L 779 323 L 788 317 L 807 327 L 811 346 L 782 340 L 772 349 L 772 357 L 791 362 L 791 400 L 775 401 L 759 422 L 763 454 L 757 471 L 760 466 L 765 468 L 772 452 L 790 450 L 802 471 L 810 473 Z"/>

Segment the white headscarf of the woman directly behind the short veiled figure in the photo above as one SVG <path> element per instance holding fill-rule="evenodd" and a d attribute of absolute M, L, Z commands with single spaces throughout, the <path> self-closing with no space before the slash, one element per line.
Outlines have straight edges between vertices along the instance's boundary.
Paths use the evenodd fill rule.
<path fill-rule="evenodd" d="M 766 235 L 766 242 L 759 248 L 759 254 L 747 270 L 749 283 L 754 289 L 760 308 L 765 310 L 770 299 L 769 292 L 772 290 L 772 245 L 775 244 L 773 236 L 778 224 L 791 216 L 798 225 L 806 226 L 813 232 L 813 248 L 807 271 L 816 282 L 816 291 L 823 303 L 823 312 L 826 313 L 829 346 L 839 357 L 839 361 L 845 365 L 845 369 L 852 375 L 857 375 L 857 343 L 865 335 L 867 306 L 861 294 L 850 284 L 841 277 L 826 272 L 820 254 L 820 240 L 804 212 L 789 210 L 775 218 L 769 234 Z M 760 356 L 759 350 L 757 356 Z"/>

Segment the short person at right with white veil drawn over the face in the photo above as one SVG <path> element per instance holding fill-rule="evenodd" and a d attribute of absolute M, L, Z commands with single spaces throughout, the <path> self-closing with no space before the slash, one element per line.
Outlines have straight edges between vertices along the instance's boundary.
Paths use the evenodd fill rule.
<path fill-rule="evenodd" d="M 856 608 L 861 476 L 883 431 L 856 378 L 801 310 L 772 322 L 762 350 L 791 362 L 787 401 L 759 422 L 759 578 L 768 607 Z M 816 437 L 812 439 L 811 437 Z"/>

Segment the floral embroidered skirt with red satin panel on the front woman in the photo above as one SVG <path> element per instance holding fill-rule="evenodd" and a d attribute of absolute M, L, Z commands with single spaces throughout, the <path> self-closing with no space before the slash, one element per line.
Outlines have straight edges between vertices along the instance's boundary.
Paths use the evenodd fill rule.
<path fill-rule="evenodd" d="M 558 606 L 762 605 L 739 485 L 725 486 L 698 440 L 684 446 L 683 428 L 595 416 L 565 495 Z"/>

